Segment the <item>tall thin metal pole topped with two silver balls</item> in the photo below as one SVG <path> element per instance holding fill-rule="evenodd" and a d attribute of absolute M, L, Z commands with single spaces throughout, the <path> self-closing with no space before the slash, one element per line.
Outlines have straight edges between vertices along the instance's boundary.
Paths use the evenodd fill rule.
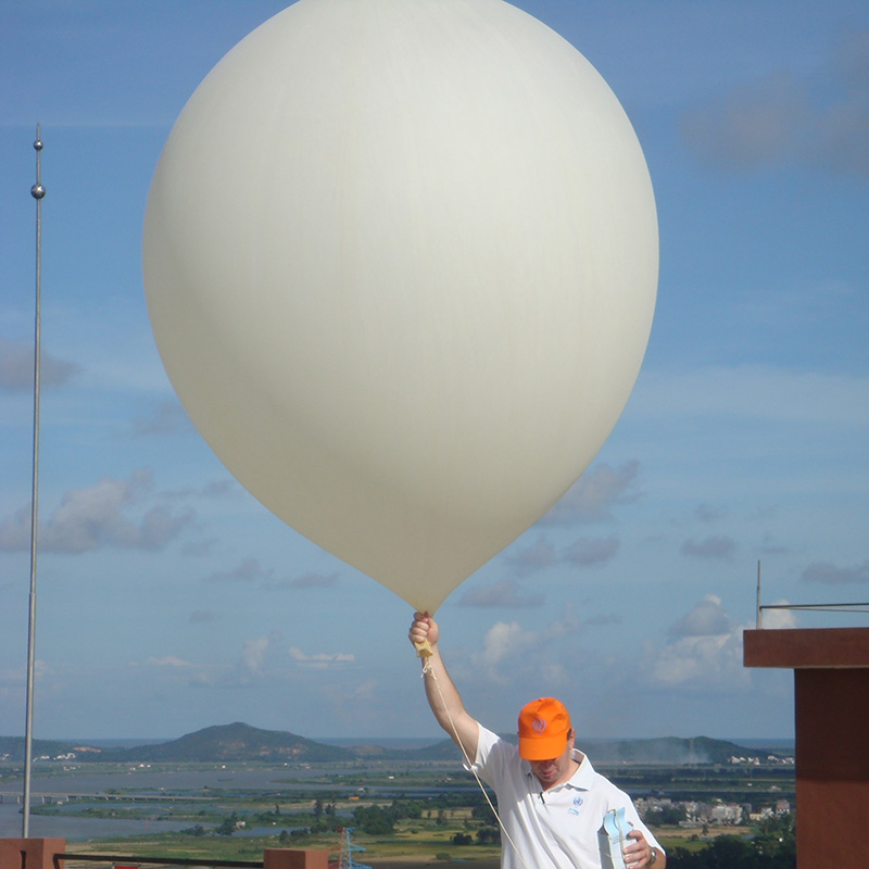
<path fill-rule="evenodd" d="M 36 125 L 36 184 L 30 188 L 30 196 L 36 200 L 36 316 L 34 324 L 34 466 L 33 487 L 30 491 L 30 620 L 27 628 L 27 701 L 25 704 L 24 725 L 24 811 L 22 835 L 27 839 L 30 826 L 30 772 L 33 766 L 34 742 L 34 663 L 36 650 L 36 534 L 37 534 L 37 494 L 39 491 L 39 358 L 41 312 L 40 294 L 42 281 L 42 197 L 46 188 L 40 177 L 42 141 L 39 137 L 39 124 Z"/>

